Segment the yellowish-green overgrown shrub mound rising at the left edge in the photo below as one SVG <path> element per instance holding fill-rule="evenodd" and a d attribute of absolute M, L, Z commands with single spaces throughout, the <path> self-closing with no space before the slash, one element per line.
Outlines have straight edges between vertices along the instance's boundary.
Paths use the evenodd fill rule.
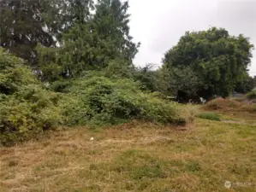
<path fill-rule="evenodd" d="M 62 121 L 60 96 L 3 50 L 0 64 L 0 144 L 18 143 L 57 126 Z"/>

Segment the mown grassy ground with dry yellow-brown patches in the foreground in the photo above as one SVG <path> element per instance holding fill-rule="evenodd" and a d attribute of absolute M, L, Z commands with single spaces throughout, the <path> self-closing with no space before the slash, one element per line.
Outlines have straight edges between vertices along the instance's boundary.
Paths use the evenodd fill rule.
<path fill-rule="evenodd" d="M 0 148 L 0 191 L 256 191 L 256 117 L 229 118 L 243 123 L 132 122 Z"/>

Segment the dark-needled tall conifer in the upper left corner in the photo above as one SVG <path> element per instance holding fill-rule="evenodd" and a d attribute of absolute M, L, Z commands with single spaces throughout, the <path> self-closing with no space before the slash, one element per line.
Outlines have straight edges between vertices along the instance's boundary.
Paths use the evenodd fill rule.
<path fill-rule="evenodd" d="M 50 8 L 49 0 L 2 0 L 0 45 L 27 61 L 34 61 L 38 43 L 47 47 L 55 44 L 44 17 Z"/>

